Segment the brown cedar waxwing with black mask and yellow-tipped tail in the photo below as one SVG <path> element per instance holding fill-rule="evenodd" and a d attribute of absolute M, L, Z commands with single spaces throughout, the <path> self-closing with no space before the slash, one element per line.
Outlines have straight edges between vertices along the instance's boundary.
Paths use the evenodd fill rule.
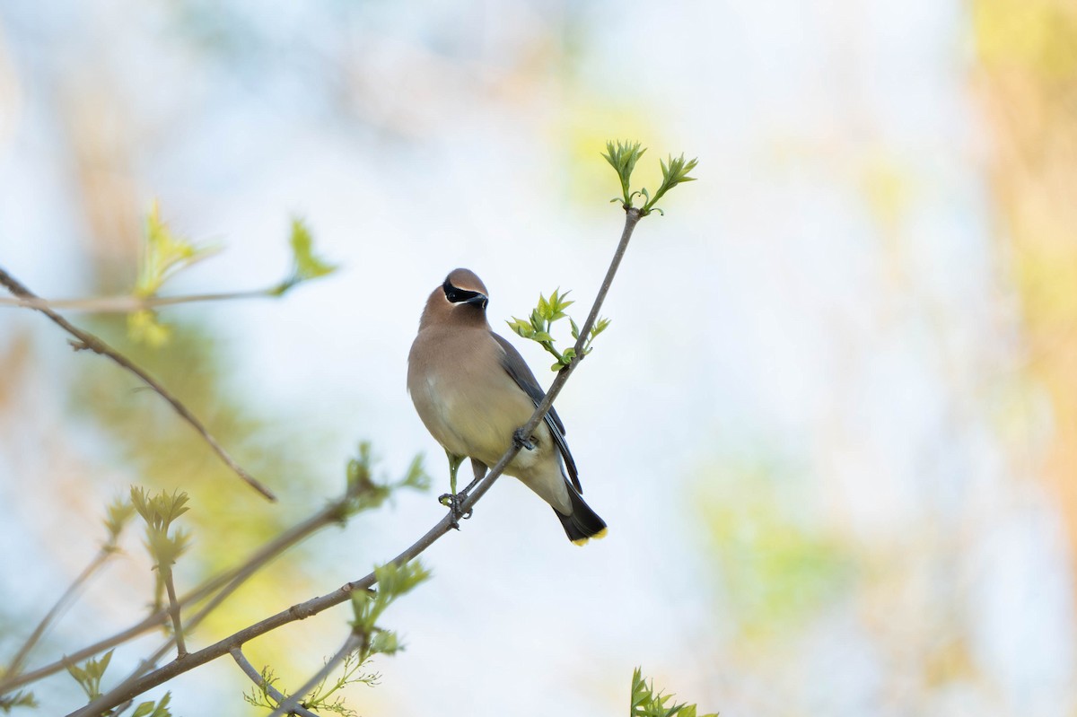
<path fill-rule="evenodd" d="M 546 395 L 513 345 L 490 331 L 488 301 L 486 286 L 472 271 L 450 272 L 426 299 L 408 355 L 408 393 L 419 418 L 449 458 L 453 494 L 464 458 L 472 460 L 477 482 L 501 460 L 517 430 Z M 564 425 L 553 408 L 505 474 L 519 478 L 549 503 L 576 545 L 605 535 L 605 522 L 581 497 L 576 463 L 564 442 Z"/>

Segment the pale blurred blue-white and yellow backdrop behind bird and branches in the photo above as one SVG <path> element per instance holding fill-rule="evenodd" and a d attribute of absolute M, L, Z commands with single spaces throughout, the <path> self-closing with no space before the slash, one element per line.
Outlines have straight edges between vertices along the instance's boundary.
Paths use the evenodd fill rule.
<path fill-rule="evenodd" d="M 0 266 L 128 293 L 154 200 L 222 248 L 165 294 L 286 271 L 292 216 L 341 270 L 179 306 L 142 362 L 282 497 L 40 314 L 0 307 L 0 661 L 131 483 L 192 495 L 183 586 L 339 494 L 373 441 L 402 494 L 274 563 L 205 646 L 368 572 L 443 515 L 404 388 L 429 292 L 491 323 L 571 289 L 621 228 L 607 139 L 698 156 L 639 226 L 613 319 L 559 399 L 610 536 L 570 545 L 499 481 L 383 623 L 366 715 L 623 714 L 632 667 L 723 715 L 1075 715 L 1077 5 L 1071 0 L 0 0 Z M 544 383 L 550 359 L 514 342 Z M 144 614 L 140 531 L 31 666 Z M 339 607 L 248 646 L 295 688 Z M 159 635 L 121 649 L 121 676 Z M 108 679 L 106 680 L 109 681 Z M 174 714 L 262 714 L 229 660 Z M 40 714 L 79 704 L 67 675 Z"/>

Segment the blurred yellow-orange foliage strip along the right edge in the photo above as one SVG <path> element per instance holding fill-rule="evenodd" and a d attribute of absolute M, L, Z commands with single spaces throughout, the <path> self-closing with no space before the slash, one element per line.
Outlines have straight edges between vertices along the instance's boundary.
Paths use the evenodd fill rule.
<path fill-rule="evenodd" d="M 1001 240 L 1012 244 L 1030 377 L 1050 399 L 1054 433 L 1035 467 L 1077 570 L 1077 3 L 976 0 L 973 17 Z"/>

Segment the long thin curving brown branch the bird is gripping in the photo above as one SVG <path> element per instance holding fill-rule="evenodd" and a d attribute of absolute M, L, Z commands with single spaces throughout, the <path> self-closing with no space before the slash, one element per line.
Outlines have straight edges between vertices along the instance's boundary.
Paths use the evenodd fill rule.
<path fill-rule="evenodd" d="M 601 308 L 602 300 L 605 298 L 606 293 L 610 291 L 610 285 L 613 282 L 614 275 L 617 272 L 617 267 L 620 265 L 620 259 L 625 254 L 625 250 L 628 248 L 629 239 L 632 236 L 632 231 L 635 228 L 637 223 L 641 219 L 640 210 L 635 208 L 628 208 L 625 210 L 625 229 L 621 233 L 620 243 L 617 245 L 617 251 L 614 253 L 613 261 L 610 265 L 610 269 L 606 271 L 605 280 L 602 282 L 602 286 L 599 290 L 599 294 L 595 299 L 595 306 L 591 308 L 591 313 L 587 321 L 584 323 L 584 329 L 590 331 L 590 325 L 592 325 L 595 318 L 598 315 L 598 311 Z M 581 337 L 585 337 L 586 331 L 581 329 Z M 535 408 L 534 413 L 531 414 L 531 419 L 523 425 L 522 435 L 527 436 L 535 426 L 538 425 L 540 421 L 549 411 L 550 406 L 554 404 L 554 399 L 560 393 L 561 388 L 564 382 L 568 381 L 569 376 L 575 369 L 576 365 L 583 360 L 582 354 L 577 353 L 572 363 L 562 368 L 554 383 L 550 385 L 549 391 L 546 393 L 546 397 L 543 398 L 542 403 Z M 478 502 L 480 497 L 493 484 L 493 481 L 502 474 L 505 467 L 512 462 L 513 458 L 520 451 L 520 446 L 514 445 L 501 460 L 498 461 L 496 465 L 490 470 L 487 477 L 479 483 L 473 493 L 467 496 L 464 501 L 461 509 L 466 512 L 467 509 L 473 507 L 475 503 Z M 402 565 L 411 559 L 419 556 L 423 550 L 433 545 L 438 538 L 448 533 L 457 521 L 453 520 L 452 514 L 448 512 L 442 520 L 439 520 L 433 528 L 431 528 L 426 533 L 420 537 L 418 540 L 412 543 L 410 546 L 404 549 L 396 558 L 393 559 L 393 563 Z M 154 670 L 153 672 L 146 674 L 145 676 L 135 680 L 130 684 L 125 681 L 117 688 L 110 690 L 109 693 L 101 695 L 97 700 L 94 700 L 88 705 L 76 709 L 75 712 L 68 715 L 68 717 L 95 717 L 101 712 L 109 709 L 121 702 L 130 700 L 134 697 L 142 694 L 146 690 L 151 690 L 158 685 L 163 685 L 168 680 L 172 679 L 177 675 L 181 675 L 190 670 L 198 667 L 218 659 L 224 655 L 229 653 L 234 648 L 241 647 L 243 644 L 254 639 L 260 635 L 264 635 L 267 632 L 271 632 L 277 628 L 285 625 L 290 622 L 296 620 L 304 620 L 308 617 L 317 615 L 334 605 L 338 605 L 351 595 L 354 590 L 367 590 L 374 587 L 376 582 L 375 574 L 372 572 L 355 580 L 353 582 L 348 582 L 340 588 L 330 592 L 327 594 L 321 595 L 319 598 L 312 598 L 304 603 L 298 603 L 289 607 L 288 609 L 281 610 L 276 615 L 265 618 L 260 622 L 247 627 L 232 635 L 208 646 L 200 650 L 188 653 L 182 661 L 173 660 L 163 667 Z"/>

